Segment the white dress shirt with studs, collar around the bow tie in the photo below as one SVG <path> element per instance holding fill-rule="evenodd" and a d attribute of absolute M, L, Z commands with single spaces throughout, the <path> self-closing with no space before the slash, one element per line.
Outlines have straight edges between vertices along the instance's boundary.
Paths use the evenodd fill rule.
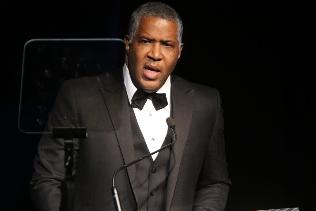
<path fill-rule="evenodd" d="M 132 83 L 126 64 L 123 67 L 123 75 L 128 100 L 130 101 L 130 104 L 132 104 L 132 98 L 137 91 L 137 88 Z M 142 110 L 133 108 L 138 126 L 143 134 L 149 152 L 154 152 L 161 148 L 167 135 L 168 126 L 166 119 L 170 116 L 170 87 L 171 83 L 169 76 L 166 83 L 157 91 L 157 93 L 166 93 L 168 105 L 165 108 L 156 111 L 151 99 L 147 99 Z M 155 160 L 158 153 L 151 156 L 153 160 Z"/>

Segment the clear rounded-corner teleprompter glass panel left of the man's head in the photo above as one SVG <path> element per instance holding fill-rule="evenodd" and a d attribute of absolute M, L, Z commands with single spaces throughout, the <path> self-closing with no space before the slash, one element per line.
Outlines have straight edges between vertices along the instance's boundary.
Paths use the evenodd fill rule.
<path fill-rule="evenodd" d="M 110 98 L 104 99 L 110 91 L 104 90 L 110 82 L 119 83 L 124 61 L 121 39 L 29 40 L 23 55 L 19 129 L 51 133 L 52 127 L 87 127 L 88 123 L 88 132 L 118 129 L 102 125 L 103 118 L 110 118 L 105 112 Z"/>

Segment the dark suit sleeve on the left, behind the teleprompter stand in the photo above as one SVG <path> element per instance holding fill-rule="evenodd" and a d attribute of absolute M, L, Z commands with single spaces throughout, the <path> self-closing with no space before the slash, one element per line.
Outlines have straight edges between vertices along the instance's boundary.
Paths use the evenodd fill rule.
<path fill-rule="evenodd" d="M 70 81 L 65 81 L 48 118 L 45 131 L 52 127 L 79 126 L 76 97 Z M 74 169 L 79 151 L 79 140 L 74 139 Z M 30 196 L 37 210 L 59 210 L 62 199 L 62 184 L 65 178 L 64 140 L 52 139 L 44 133 L 34 160 L 34 172 L 30 182 Z"/>

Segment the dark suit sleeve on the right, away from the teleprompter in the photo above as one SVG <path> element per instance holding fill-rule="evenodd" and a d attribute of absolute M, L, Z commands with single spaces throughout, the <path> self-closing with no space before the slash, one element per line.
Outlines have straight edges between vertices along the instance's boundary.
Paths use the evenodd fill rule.
<path fill-rule="evenodd" d="M 228 188 L 231 185 L 228 179 L 225 156 L 224 119 L 221 107 L 221 98 L 217 93 L 217 112 L 212 135 L 208 144 L 204 163 L 197 182 L 192 210 L 224 210 Z"/>

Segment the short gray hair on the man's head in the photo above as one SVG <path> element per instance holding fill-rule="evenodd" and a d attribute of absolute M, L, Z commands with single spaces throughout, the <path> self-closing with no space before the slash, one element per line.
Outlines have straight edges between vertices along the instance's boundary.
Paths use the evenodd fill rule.
<path fill-rule="evenodd" d="M 135 9 L 135 11 L 131 15 L 127 29 L 130 43 L 137 33 L 138 25 L 141 18 L 149 16 L 164 18 L 177 24 L 177 40 L 179 42 L 180 48 L 183 34 L 183 25 L 180 16 L 172 7 L 161 2 L 148 2 L 140 5 L 137 9 Z"/>

